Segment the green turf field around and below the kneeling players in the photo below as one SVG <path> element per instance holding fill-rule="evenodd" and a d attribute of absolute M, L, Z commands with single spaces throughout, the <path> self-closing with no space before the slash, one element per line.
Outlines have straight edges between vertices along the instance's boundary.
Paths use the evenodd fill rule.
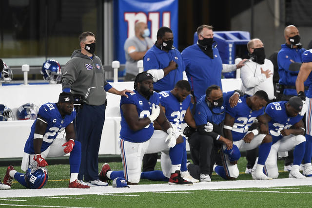
<path fill-rule="evenodd" d="M 47 160 L 48 161 L 48 160 Z M 238 167 L 241 174 L 236 181 L 237 184 L 248 185 L 256 181 L 252 181 L 249 174 L 242 173 L 245 171 L 246 159 L 242 157 L 239 160 Z M 120 162 L 110 163 L 112 170 L 121 170 Z M 283 161 L 278 161 L 279 170 L 283 170 Z M 101 164 L 99 164 L 101 167 Z M 15 167 L 20 171 L 20 167 Z M 160 163 L 157 163 L 157 170 L 160 170 Z M 0 167 L 0 174 L 3 178 L 6 167 Z M 53 194 L 36 197 L 1 197 L 4 191 L 20 191 L 31 193 L 32 191 L 22 187 L 15 182 L 11 190 L 0 190 L 0 207 L 312 207 L 312 183 L 309 186 L 284 186 L 279 184 L 275 186 L 261 185 L 253 188 L 220 188 L 224 184 L 231 184 L 231 181 L 224 181 L 218 175 L 213 174 L 212 181 L 208 183 L 199 183 L 193 186 L 170 186 L 166 182 L 155 182 L 141 180 L 142 186 L 131 186 L 128 188 L 112 188 L 101 187 L 102 192 L 92 194 L 93 189 L 84 189 L 85 193 L 78 195 L 63 194 L 58 196 L 61 190 L 72 191 L 75 193 L 77 189 L 48 189 L 48 188 L 66 188 L 69 183 L 69 165 L 50 165 L 49 181 L 43 188 L 44 191 L 50 190 Z M 280 171 L 279 178 L 288 178 L 288 172 Z M 278 179 L 275 179 L 278 180 Z M 275 181 L 271 180 L 271 181 Z M 289 180 L 289 179 L 281 179 Z M 310 179 L 292 179 L 310 180 Z M 310 180 L 311 181 L 311 180 Z M 158 185 L 157 185 L 158 183 Z M 159 184 L 160 183 L 160 184 Z M 283 182 L 282 182 L 283 183 Z M 144 185 L 145 184 L 145 185 Z M 207 188 L 202 188 L 205 184 Z M 211 188 L 212 185 L 217 185 L 217 188 Z M 220 184 L 220 187 L 218 187 Z M 196 186 L 200 189 L 196 189 Z M 162 189 L 155 191 L 152 187 L 161 186 Z M 150 189 L 151 187 L 151 189 Z M 164 191 L 170 188 L 171 190 Z M 238 186 L 237 186 L 238 187 Z M 142 188 L 140 190 L 140 188 Z M 185 189 L 184 189 L 185 188 Z M 43 191 L 42 189 L 42 191 Z M 108 191 L 106 191 L 108 190 Z M 115 190 L 118 190 L 116 192 Z M 131 192 L 134 190 L 134 192 Z M 138 191 L 137 191 L 138 190 Z M 115 192 L 114 192 L 115 191 Z M 143 191 L 143 192 L 142 192 Z M 20 196 L 20 195 L 18 195 Z"/>

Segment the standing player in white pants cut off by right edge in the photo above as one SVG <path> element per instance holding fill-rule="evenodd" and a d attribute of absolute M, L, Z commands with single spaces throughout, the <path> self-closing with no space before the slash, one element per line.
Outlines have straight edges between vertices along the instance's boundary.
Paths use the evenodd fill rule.
<path fill-rule="evenodd" d="M 312 49 L 305 51 L 302 54 L 302 65 L 300 67 L 300 72 L 298 74 L 296 80 L 296 89 L 298 92 L 298 96 L 301 99 L 306 100 L 306 104 L 308 107 L 306 114 L 306 151 L 304 154 L 304 169 L 303 174 L 307 177 L 312 177 Z M 307 91 L 307 97 L 305 97 L 304 89 L 305 84 L 309 86 L 309 90 Z M 302 113 L 301 113 L 302 114 Z"/>

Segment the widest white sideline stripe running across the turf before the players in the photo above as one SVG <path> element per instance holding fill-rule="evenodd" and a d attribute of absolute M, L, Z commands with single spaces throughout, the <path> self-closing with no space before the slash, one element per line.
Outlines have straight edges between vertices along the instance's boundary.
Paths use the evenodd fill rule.
<path fill-rule="evenodd" d="M 0 190 L 0 198 L 36 197 L 36 196 L 70 196 L 88 194 L 109 194 L 109 193 L 137 193 L 153 191 L 186 191 L 204 189 L 240 189 L 258 187 L 292 187 L 312 185 L 312 178 L 294 179 L 281 178 L 273 180 L 237 180 L 237 181 L 215 181 L 209 183 L 195 183 L 193 186 L 173 186 L 169 184 L 146 184 L 129 185 L 130 189 L 118 189 L 112 186 L 91 187 L 90 189 L 7 189 Z"/>

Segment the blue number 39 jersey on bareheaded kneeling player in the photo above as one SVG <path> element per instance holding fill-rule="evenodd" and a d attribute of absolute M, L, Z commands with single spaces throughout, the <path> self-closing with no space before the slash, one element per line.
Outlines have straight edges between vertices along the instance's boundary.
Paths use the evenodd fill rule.
<path fill-rule="evenodd" d="M 191 95 L 188 95 L 183 102 L 179 102 L 170 91 L 162 91 L 158 94 L 160 104 L 166 109 L 165 115 L 167 119 L 172 126 L 181 130 L 184 115 L 191 105 Z"/>

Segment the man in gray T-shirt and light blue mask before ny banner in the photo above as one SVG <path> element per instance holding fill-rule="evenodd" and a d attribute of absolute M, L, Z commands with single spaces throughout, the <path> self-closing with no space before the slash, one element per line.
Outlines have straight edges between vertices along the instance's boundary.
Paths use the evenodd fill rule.
<path fill-rule="evenodd" d="M 134 81 L 137 74 L 137 61 L 142 60 L 146 51 L 153 46 L 150 30 L 145 22 L 137 22 L 135 25 L 134 37 L 128 38 L 124 44 L 126 57 L 126 76 L 125 81 Z"/>

